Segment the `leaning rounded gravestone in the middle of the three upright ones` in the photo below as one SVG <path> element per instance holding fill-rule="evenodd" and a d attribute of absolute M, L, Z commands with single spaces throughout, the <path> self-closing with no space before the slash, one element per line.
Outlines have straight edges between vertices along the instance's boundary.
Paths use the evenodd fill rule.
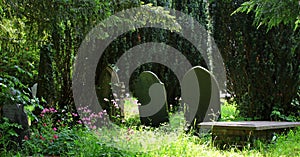
<path fill-rule="evenodd" d="M 158 127 L 169 122 L 164 84 L 150 71 L 142 72 L 133 85 L 133 96 L 141 104 L 138 106 L 143 125 Z"/>

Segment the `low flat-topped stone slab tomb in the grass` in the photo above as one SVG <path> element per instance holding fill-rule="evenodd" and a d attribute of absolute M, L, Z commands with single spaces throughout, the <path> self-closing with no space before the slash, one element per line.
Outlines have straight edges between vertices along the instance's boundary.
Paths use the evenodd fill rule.
<path fill-rule="evenodd" d="M 243 148 L 253 145 L 255 140 L 270 142 L 275 135 L 289 129 L 300 127 L 300 122 L 239 121 L 239 122 L 202 122 L 199 127 L 212 130 L 214 145 Z"/>

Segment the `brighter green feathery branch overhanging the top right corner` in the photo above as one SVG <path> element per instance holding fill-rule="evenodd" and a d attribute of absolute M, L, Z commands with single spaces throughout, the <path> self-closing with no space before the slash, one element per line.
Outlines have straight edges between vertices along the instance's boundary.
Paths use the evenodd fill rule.
<path fill-rule="evenodd" d="M 266 25 L 268 30 L 280 24 L 299 28 L 300 2 L 298 0 L 249 0 L 233 12 L 255 12 L 254 24 Z"/>

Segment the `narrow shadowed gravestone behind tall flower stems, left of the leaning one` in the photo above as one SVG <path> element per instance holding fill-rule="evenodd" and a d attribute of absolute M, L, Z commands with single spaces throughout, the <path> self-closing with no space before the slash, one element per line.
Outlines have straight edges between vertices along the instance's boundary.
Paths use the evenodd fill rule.
<path fill-rule="evenodd" d="M 124 117 L 123 113 L 123 94 L 122 83 L 119 81 L 118 74 L 111 68 L 103 69 L 96 78 L 96 93 L 99 103 L 103 110 L 106 110 L 110 120 L 116 122 L 114 117 Z M 113 93 L 112 88 L 116 93 Z"/>

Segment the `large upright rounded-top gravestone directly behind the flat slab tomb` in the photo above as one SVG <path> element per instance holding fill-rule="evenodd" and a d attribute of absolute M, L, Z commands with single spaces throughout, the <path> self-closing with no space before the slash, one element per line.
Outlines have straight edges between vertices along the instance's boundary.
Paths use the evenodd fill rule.
<path fill-rule="evenodd" d="M 190 69 L 183 77 L 181 90 L 189 127 L 217 120 L 220 116 L 220 92 L 209 71 L 200 66 Z"/>

